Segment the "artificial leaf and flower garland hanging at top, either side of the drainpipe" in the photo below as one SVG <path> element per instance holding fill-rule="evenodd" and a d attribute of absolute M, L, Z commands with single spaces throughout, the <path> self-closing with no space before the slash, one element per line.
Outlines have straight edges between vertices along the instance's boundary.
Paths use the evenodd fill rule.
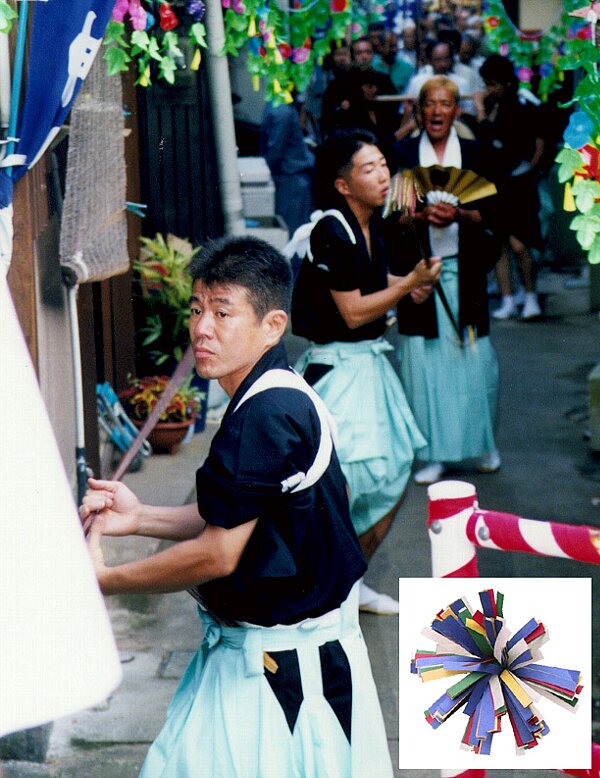
<path fill-rule="evenodd" d="M 258 90 L 262 82 L 265 98 L 274 104 L 289 103 L 294 89 L 306 89 L 331 45 L 349 35 L 358 37 L 386 13 L 383 4 L 359 0 L 294 0 L 289 7 L 276 0 L 220 2 L 225 28 L 221 54 L 237 57 L 244 49 L 254 87 Z M 197 70 L 206 47 L 204 13 L 202 0 L 117 0 L 104 39 L 109 72 L 128 70 L 135 62 L 136 83 L 150 86 L 157 79 L 173 84 L 179 68 Z M 186 37 L 193 48 L 187 64 Z"/>

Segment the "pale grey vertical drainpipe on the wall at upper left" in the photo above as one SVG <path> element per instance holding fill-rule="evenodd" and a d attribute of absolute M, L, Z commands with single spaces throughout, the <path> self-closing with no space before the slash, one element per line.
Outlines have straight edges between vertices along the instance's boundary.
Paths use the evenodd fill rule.
<path fill-rule="evenodd" d="M 225 44 L 225 28 L 221 3 L 217 0 L 206 3 L 206 40 L 208 88 L 225 234 L 239 235 L 245 232 L 246 223 L 242 210 L 242 188 L 237 166 L 229 66 L 227 57 L 219 56 Z"/>

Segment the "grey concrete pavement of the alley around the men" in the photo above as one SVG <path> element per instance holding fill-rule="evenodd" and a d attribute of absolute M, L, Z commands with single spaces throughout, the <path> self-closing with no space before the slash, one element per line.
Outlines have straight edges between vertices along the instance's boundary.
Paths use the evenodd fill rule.
<path fill-rule="evenodd" d="M 587 290 L 567 288 L 565 280 L 551 273 L 540 277 L 543 320 L 493 325 L 501 370 L 498 443 L 502 469 L 494 475 L 454 471 L 450 476 L 474 483 L 482 507 L 530 518 L 600 526 L 600 508 L 594 504 L 600 496 L 600 460 L 590 454 L 585 439 L 586 377 L 600 361 L 600 321 L 587 312 Z M 302 346 L 301 341 L 288 338 L 290 361 Z M 190 499 L 195 469 L 215 429 L 209 425 L 176 456 L 153 456 L 139 472 L 128 474 L 124 480 L 147 502 L 177 505 Z M 374 588 L 393 594 L 399 576 L 430 575 L 426 510 L 426 489 L 411 485 L 390 535 L 367 573 L 367 582 Z M 117 563 L 157 547 L 148 539 L 108 539 L 107 558 Z M 589 576 L 594 577 L 595 586 L 598 583 L 597 567 L 565 560 L 492 551 L 481 553 L 479 560 L 482 576 Z M 113 597 L 107 599 L 107 605 L 123 662 L 121 687 L 95 709 L 56 723 L 44 765 L 7 763 L 4 778 L 137 775 L 177 681 L 198 645 L 200 630 L 194 602 L 184 593 L 153 598 Z M 396 763 L 398 621 L 363 615 L 361 622 Z M 594 644 L 600 645 L 596 603 Z M 598 669 L 596 657 L 595 679 Z M 595 698 L 600 699 L 597 683 Z M 462 732 L 462 722 L 460 729 Z M 433 770 L 396 772 L 400 778 L 438 776 Z M 531 778 L 556 775 L 547 771 L 527 774 Z M 511 778 L 516 772 L 495 771 L 494 775 Z"/>

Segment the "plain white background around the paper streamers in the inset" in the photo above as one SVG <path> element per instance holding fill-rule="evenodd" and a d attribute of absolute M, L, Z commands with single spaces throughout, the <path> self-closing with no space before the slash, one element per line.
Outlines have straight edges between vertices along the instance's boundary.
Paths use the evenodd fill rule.
<path fill-rule="evenodd" d="M 591 761 L 591 579 L 590 578 L 401 578 L 399 580 L 399 766 L 401 769 L 588 769 Z M 579 670 L 583 691 L 574 711 L 546 697 L 534 701 L 550 733 L 539 744 L 516 754 L 508 714 L 494 735 L 489 756 L 461 748 L 468 723 L 463 708 L 433 729 L 424 711 L 464 675 L 424 683 L 410 672 L 418 649 L 432 651 L 421 631 L 436 613 L 458 598 L 481 610 L 479 592 L 504 594 L 505 624 L 515 634 L 529 619 L 546 627 L 549 640 L 539 664 Z"/>

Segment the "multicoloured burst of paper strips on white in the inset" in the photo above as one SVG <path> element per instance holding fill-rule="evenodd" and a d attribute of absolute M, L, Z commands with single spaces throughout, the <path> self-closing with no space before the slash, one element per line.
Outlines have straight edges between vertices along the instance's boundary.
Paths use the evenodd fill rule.
<path fill-rule="evenodd" d="M 473 613 L 462 598 L 436 615 L 423 630 L 436 642 L 436 649 L 417 650 L 411 673 L 422 681 L 464 676 L 425 711 L 434 729 L 464 706 L 469 721 L 462 747 L 490 754 L 502 717 L 508 715 L 517 752 L 524 752 L 550 732 L 533 703 L 541 696 L 575 708 L 583 688 L 581 674 L 538 664 L 540 646 L 548 640 L 545 626 L 532 618 L 511 635 L 501 592 L 487 589 L 479 593 L 479 599 L 481 611 Z"/>

